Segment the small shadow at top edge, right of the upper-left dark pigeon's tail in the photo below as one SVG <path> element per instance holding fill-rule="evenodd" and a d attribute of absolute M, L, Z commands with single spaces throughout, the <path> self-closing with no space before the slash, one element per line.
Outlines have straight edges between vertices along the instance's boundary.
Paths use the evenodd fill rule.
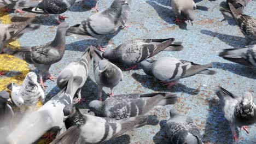
<path fill-rule="evenodd" d="M 92 7 L 95 7 L 96 1 L 89 0 L 89 1 L 79 1 L 75 2 L 74 5 L 69 9 L 69 11 L 73 12 L 85 12 L 91 10 Z"/>

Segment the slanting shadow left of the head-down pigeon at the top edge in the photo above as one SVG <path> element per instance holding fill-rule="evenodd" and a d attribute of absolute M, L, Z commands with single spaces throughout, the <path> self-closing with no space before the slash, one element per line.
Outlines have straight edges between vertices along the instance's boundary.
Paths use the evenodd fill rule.
<path fill-rule="evenodd" d="M 162 20 L 170 24 L 176 24 L 174 23 L 175 14 L 170 8 L 166 8 L 160 5 L 159 3 L 157 3 L 156 1 L 146 1 L 146 3 L 148 3 L 155 9 L 156 13 L 158 13 L 159 17 Z M 188 30 L 186 22 L 179 23 L 179 25 L 177 26 L 179 26 L 179 28 L 181 29 Z"/>

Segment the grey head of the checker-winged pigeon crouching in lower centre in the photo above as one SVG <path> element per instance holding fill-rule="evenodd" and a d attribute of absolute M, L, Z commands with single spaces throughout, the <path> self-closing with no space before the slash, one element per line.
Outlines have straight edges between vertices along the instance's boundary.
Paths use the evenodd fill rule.
<path fill-rule="evenodd" d="M 102 116 L 104 103 L 100 100 L 93 100 L 89 104 L 89 112 L 95 113 L 95 116 Z"/>

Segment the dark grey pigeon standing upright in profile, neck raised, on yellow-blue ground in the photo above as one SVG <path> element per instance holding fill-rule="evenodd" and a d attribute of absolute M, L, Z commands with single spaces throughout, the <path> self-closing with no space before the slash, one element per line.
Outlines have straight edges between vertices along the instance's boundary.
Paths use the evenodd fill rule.
<path fill-rule="evenodd" d="M 61 23 L 57 28 L 56 37 L 53 41 L 41 46 L 21 47 L 21 49 L 4 49 L 5 53 L 14 55 L 26 62 L 33 64 L 39 71 L 40 85 L 45 89 L 43 82 L 44 71 L 49 71 L 51 64 L 59 62 L 66 49 L 65 33 L 68 29 L 66 22 Z M 48 79 L 52 80 L 55 77 L 48 74 Z"/>

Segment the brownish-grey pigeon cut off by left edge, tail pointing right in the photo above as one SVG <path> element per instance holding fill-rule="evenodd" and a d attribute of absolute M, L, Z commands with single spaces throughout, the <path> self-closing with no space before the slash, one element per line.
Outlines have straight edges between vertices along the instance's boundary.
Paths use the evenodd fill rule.
<path fill-rule="evenodd" d="M 24 22 L 11 25 L 0 24 L 0 52 L 5 44 L 20 38 L 25 32 L 33 31 L 39 28 L 39 25 L 31 25 L 34 18 L 29 18 Z"/>

